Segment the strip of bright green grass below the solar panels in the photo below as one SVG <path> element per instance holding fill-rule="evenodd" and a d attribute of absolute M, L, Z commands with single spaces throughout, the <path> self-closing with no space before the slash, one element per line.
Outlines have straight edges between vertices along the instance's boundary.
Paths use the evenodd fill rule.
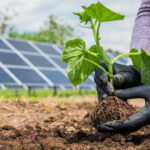
<path fill-rule="evenodd" d="M 53 90 L 31 90 L 29 95 L 27 90 L 0 90 L 0 101 L 3 99 L 16 99 L 16 98 L 31 98 L 36 101 L 36 98 L 46 97 L 76 97 L 85 95 L 96 95 L 96 90 L 57 90 L 57 95 L 54 96 Z"/>

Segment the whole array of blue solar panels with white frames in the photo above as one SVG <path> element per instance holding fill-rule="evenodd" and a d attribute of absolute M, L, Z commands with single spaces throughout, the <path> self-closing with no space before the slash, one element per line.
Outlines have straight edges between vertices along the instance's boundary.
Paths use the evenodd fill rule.
<path fill-rule="evenodd" d="M 0 38 L 0 88 L 72 88 L 66 64 L 61 62 L 62 50 L 50 44 Z M 94 89 L 93 75 L 80 88 Z"/>

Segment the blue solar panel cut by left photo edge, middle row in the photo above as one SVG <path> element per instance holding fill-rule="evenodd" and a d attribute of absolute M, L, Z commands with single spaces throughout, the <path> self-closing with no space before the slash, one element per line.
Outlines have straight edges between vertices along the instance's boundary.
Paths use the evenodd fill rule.
<path fill-rule="evenodd" d="M 27 64 L 15 53 L 0 52 L 0 61 L 3 64 L 27 66 Z"/>

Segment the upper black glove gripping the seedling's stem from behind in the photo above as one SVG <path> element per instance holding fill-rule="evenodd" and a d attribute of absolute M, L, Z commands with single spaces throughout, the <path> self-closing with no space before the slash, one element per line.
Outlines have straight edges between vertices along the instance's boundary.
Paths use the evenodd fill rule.
<path fill-rule="evenodd" d="M 108 71 L 108 67 L 105 62 L 100 62 L 99 65 Z M 138 69 L 135 69 L 133 66 L 126 66 L 114 63 L 113 74 L 115 89 L 124 89 L 140 85 L 141 73 Z M 107 95 L 111 95 L 113 93 L 114 89 L 109 82 L 109 78 L 97 66 L 95 67 L 94 81 L 96 83 L 99 101 L 107 97 Z"/>

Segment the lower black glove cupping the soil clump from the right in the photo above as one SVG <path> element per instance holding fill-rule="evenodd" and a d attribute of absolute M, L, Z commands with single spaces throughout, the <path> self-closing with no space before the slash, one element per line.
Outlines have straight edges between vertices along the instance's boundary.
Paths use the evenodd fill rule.
<path fill-rule="evenodd" d="M 100 132 L 131 133 L 150 124 L 150 84 L 124 90 L 116 90 L 114 95 L 122 99 L 144 98 L 145 107 L 123 122 L 110 121 L 104 123 L 99 128 Z"/>

